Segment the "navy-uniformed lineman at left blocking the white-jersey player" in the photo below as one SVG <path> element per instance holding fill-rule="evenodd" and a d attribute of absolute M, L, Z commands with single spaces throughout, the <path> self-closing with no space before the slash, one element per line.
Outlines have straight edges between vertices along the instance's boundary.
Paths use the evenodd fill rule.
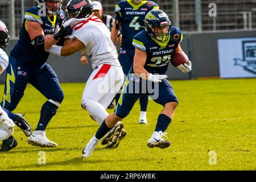
<path fill-rule="evenodd" d="M 42 147 L 56 147 L 47 139 L 46 127 L 63 101 L 63 91 L 52 68 L 46 64 L 49 44 L 57 43 L 72 33 L 70 27 L 59 28 L 64 13 L 62 0 L 38 0 L 38 7 L 25 11 L 20 36 L 9 57 L 6 69 L 5 93 L 2 106 L 13 111 L 23 97 L 28 83 L 42 93 L 48 101 L 42 106 L 38 126 L 28 138 L 28 143 Z M 58 32 L 59 31 L 59 32 Z M 9 117 L 15 122 L 15 118 Z"/>

